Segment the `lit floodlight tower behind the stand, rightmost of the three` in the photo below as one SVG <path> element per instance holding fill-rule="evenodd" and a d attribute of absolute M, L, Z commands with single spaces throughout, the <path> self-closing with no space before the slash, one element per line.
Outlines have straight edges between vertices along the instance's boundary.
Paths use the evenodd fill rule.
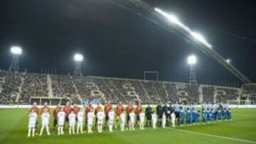
<path fill-rule="evenodd" d="M 188 56 L 188 65 L 190 65 L 189 84 L 198 84 L 196 79 L 196 56 Z"/>

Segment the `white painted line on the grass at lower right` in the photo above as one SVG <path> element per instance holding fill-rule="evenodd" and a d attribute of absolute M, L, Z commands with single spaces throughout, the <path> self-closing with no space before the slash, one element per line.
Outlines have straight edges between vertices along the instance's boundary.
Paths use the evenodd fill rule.
<path fill-rule="evenodd" d="M 223 139 L 227 139 L 227 140 L 235 140 L 235 141 L 240 141 L 240 142 L 245 142 L 245 143 L 256 143 L 256 141 L 251 141 L 251 140 L 242 140 L 242 139 L 238 139 L 238 138 L 230 138 L 230 137 L 219 136 L 219 135 L 210 135 L 210 134 L 206 134 L 206 133 L 198 133 L 198 132 L 194 132 L 194 131 L 181 130 L 181 129 L 177 129 L 177 128 L 171 128 L 171 129 L 173 129 L 175 131 L 183 131 L 183 132 L 186 132 L 186 133 L 206 135 L 206 136 L 210 136 L 210 137 L 223 138 Z"/>

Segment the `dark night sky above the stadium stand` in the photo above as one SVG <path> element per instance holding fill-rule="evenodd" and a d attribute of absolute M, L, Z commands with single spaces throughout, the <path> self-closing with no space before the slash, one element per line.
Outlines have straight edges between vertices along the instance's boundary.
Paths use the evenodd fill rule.
<path fill-rule="evenodd" d="M 145 0 L 203 33 L 255 82 L 254 1 Z M 1 69 L 10 65 L 11 45 L 23 48 L 21 69 L 30 72 L 57 68 L 58 73 L 73 73 L 73 55 L 82 52 L 85 75 L 142 79 L 144 70 L 158 70 L 161 79 L 186 79 L 186 57 L 193 53 L 198 56 L 198 79 L 237 80 L 173 33 L 102 0 L 1 0 Z"/>

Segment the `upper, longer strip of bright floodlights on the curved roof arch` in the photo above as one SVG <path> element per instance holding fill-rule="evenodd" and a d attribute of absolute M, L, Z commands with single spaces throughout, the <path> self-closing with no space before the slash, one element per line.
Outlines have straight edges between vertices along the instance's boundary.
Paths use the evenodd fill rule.
<path fill-rule="evenodd" d="M 181 23 L 181 21 L 179 21 L 178 18 L 173 14 L 166 13 L 159 8 L 155 8 L 154 10 L 163 15 L 164 17 L 166 17 L 169 21 L 171 21 L 171 23 L 175 23 L 176 25 L 183 28 L 183 30 L 186 30 L 188 33 L 191 33 L 191 30 L 187 26 L 183 25 L 183 23 Z"/>

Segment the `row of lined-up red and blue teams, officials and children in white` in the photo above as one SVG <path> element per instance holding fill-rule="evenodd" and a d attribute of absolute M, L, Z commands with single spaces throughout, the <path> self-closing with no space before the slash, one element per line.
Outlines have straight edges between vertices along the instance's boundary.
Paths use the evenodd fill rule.
<path fill-rule="evenodd" d="M 150 105 L 143 112 L 141 104 L 137 104 L 136 107 L 129 104 L 124 108 L 119 103 L 114 109 L 111 103 L 107 103 L 104 109 L 102 107 L 100 103 L 97 104 L 95 109 L 92 104 L 88 104 L 84 108 L 80 108 L 76 104 L 71 107 L 69 102 L 63 107 L 56 106 L 53 111 L 53 131 L 57 127 L 58 135 L 63 135 L 65 123 L 68 123 L 69 134 L 75 134 L 75 125 L 77 126 L 76 133 L 83 133 L 84 121 L 87 133 L 92 133 L 93 123 L 95 123 L 97 132 L 102 133 L 103 124 L 105 124 L 106 128 L 108 126 L 108 130 L 112 132 L 114 126 L 116 129 L 119 126 L 121 131 L 124 131 L 125 128 L 129 129 L 129 131 L 134 131 L 134 126 L 138 124 L 140 130 L 144 129 L 144 124 L 152 128 L 156 128 L 156 126 L 162 128 L 166 126 L 175 127 L 176 119 L 180 126 L 232 119 L 232 114 L 227 104 L 202 104 L 201 111 L 196 110 L 196 105 L 189 104 L 159 104 L 156 106 L 156 112 L 152 110 Z M 46 103 L 43 108 L 38 109 L 35 102 L 29 109 L 28 137 L 34 136 L 36 133 L 39 113 L 41 114 L 39 135 L 43 134 L 44 129 L 50 135 L 50 108 Z M 114 120 L 116 121 L 115 123 Z"/>

